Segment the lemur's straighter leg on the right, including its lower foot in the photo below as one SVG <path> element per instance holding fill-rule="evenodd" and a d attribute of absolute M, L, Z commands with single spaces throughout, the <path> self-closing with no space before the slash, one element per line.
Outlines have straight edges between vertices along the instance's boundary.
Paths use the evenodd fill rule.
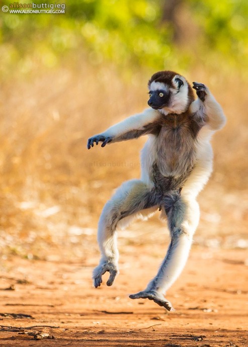
<path fill-rule="evenodd" d="M 164 199 L 163 207 L 166 210 L 171 234 L 167 255 L 157 275 L 149 282 L 146 289 L 129 297 L 131 299 L 147 298 L 171 311 L 172 304 L 164 298 L 163 294 L 176 281 L 186 264 L 200 213 L 194 198 L 190 199 L 178 194 L 168 195 Z"/>

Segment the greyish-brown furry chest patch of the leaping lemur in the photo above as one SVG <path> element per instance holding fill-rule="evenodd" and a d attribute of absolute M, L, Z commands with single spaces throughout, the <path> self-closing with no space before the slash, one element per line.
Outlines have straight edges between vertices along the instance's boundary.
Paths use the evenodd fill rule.
<path fill-rule="evenodd" d="M 163 125 L 157 136 L 155 162 L 163 176 L 181 176 L 193 167 L 195 139 L 188 125 Z"/>

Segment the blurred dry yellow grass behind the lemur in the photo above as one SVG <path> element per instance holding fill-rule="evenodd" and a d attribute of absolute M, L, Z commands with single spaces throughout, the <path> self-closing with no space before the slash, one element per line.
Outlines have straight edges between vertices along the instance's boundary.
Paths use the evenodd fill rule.
<path fill-rule="evenodd" d="M 144 109 L 149 77 L 135 72 L 131 82 L 124 82 L 114 69 L 85 62 L 79 70 L 68 65 L 28 80 L 2 83 L 0 246 L 4 252 L 42 257 L 49 246 L 53 253 L 80 253 L 80 242 L 87 242 L 95 231 L 113 190 L 139 177 L 139 150 L 145 142 L 141 138 L 88 151 L 87 139 Z M 247 83 L 199 69 L 187 78 L 209 85 L 228 118 L 225 129 L 213 139 L 215 168 L 199 198 L 202 218 L 197 237 L 228 236 L 225 244 L 233 245 L 236 234 L 245 237 L 248 221 Z M 131 228 L 147 230 L 147 235 L 154 228 L 161 235 L 164 230 L 157 218 Z M 68 244 L 72 250 L 66 251 Z M 89 246 L 96 247 L 96 242 L 89 241 Z"/>

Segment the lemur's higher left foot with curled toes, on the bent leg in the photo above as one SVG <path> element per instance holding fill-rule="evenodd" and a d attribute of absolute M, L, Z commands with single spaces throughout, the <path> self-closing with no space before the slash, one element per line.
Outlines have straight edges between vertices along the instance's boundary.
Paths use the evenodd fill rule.
<path fill-rule="evenodd" d="M 114 264 L 110 260 L 101 261 L 100 264 L 94 269 L 93 271 L 93 281 L 94 281 L 94 287 L 100 287 L 101 283 L 103 282 L 102 276 L 109 272 L 110 276 L 107 281 L 107 286 L 112 286 L 116 275 L 118 274 L 118 268 L 117 265 Z"/>

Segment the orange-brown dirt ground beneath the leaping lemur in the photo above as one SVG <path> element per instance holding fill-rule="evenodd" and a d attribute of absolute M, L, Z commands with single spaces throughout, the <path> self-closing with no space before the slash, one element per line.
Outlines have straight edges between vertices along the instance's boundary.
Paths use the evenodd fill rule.
<path fill-rule="evenodd" d="M 248 346 L 247 250 L 194 247 L 183 275 L 168 292 L 174 313 L 128 298 L 144 288 L 160 262 L 154 252 L 147 255 L 148 246 L 139 246 L 140 256 L 135 250 L 130 245 L 122 253 L 115 285 L 97 290 L 91 282 L 95 254 L 81 262 L 3 260 L 0 345 Z M 156 254 L 163 252 L 158 246 Z M 5 290 L 11 285 L 12 290 Z M 27 329 L 31 326 L 36 327 Z M 54 339 L 34 340 L 39 331 Z"/>

